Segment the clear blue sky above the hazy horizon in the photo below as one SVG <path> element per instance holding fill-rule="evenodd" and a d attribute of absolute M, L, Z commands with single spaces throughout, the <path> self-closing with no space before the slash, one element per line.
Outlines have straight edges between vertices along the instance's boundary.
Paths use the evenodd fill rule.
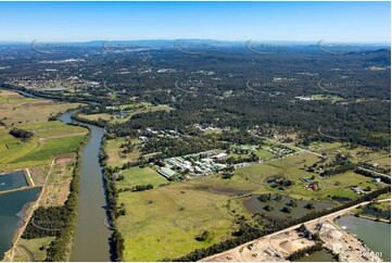
<path fill-rule="evenodd" d="M 390 42 L 390 2 L 0 2 L 0 41 Z"/>

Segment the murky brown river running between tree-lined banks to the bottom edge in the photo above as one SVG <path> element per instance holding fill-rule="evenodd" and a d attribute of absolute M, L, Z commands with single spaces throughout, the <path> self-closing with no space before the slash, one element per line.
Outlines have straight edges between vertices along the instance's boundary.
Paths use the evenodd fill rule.
<path fill-rule="evenodd" d="M 71 115 L 72 113 L 65 113 L 60 121 L 73 123 Z M 103 224 L 106 217 L 106 200 L 102 167 L 99 163 L 104 129 L 84 125 L 90 128 L 90 138 L 83 150 L 77 225 L 71 261 L 111 261 L 112 233 Z"/>

